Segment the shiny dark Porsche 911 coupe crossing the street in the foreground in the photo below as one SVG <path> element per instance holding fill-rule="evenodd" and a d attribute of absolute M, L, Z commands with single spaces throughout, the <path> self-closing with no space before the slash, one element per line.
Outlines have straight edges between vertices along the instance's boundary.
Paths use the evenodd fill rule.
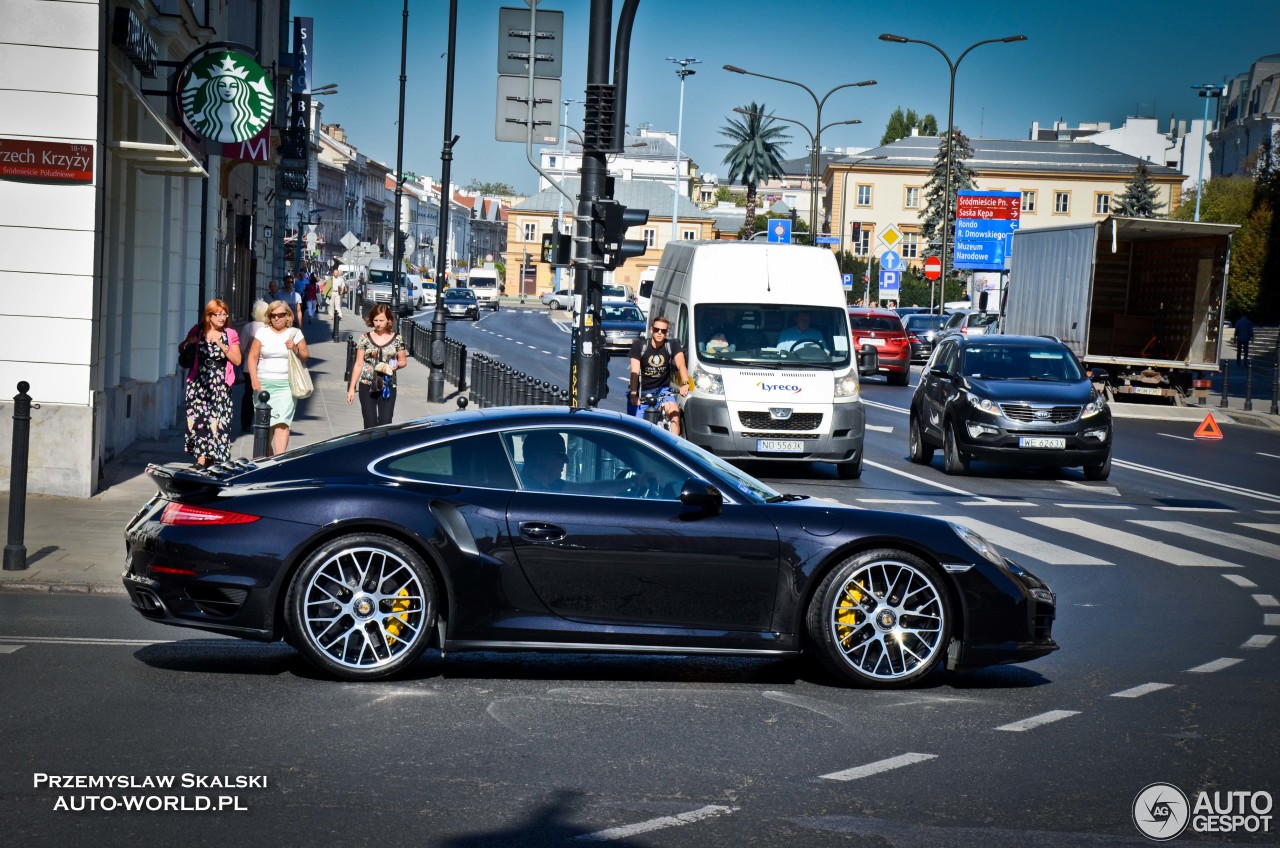
<path fill-rule="evenodd" d="M 152 466 L 124 585 L 349 680 L 453 651 L 787 656 L 904 687 L 1057 649 L 1055 597 L 937 519 L 780 494 L 643 420 L 458 411 L 210 471 Z"/>

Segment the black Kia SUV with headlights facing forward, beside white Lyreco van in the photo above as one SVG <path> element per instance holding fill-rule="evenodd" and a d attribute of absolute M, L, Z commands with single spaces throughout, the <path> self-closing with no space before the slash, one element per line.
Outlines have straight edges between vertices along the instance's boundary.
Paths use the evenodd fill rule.
<path fill-rule="evenodd" d="M 1093 380 L 1105 380 L 1094 369 Z M 942 448 L 943 470 L 969 461 L 1083 468 L 1089 480 L 1111 473 L 1111 409 L 1071 350 L 1044 336 L 938 339 L 920 371 L 908 425 L 911 461 Z"/>

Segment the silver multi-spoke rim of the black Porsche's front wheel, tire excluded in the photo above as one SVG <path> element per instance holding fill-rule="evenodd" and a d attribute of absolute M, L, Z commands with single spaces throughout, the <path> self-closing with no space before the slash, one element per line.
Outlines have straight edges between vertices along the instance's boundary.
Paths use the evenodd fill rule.
<path fill-rule="evenodd" d="M 932 666 L 946 648 L 948 623 L 940 588 L 909 562 L 867 562 L 845 579 L 835 597 L 832 642 L 859 676 L 899 680 Z"/>

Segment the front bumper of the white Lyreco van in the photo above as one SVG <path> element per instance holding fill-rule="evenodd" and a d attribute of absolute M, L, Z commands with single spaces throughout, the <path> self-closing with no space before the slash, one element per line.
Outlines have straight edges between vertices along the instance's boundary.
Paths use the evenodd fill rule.
<path fill-rule="evenodd" d="M 736 460 L 822 461 L 847 462 L 863 451 L 863 432 L 867 424 L 861 402 L 815 405 L 813 409 L 795 407 L 795 415 L 819 412 L 822 424 L 809 430 L 778 428 L 748 429 L 740 418 L 742 407 L 730 409 L 723 398 L 690 396 L 684 404 L 682 436 L 716 456 Z M 768 415 L 768 406 L 759 405 L 759 412 Z M 759 439 L 786 439 L 804 443 L 804 451 L 771 453 L 762 452 Z"/>

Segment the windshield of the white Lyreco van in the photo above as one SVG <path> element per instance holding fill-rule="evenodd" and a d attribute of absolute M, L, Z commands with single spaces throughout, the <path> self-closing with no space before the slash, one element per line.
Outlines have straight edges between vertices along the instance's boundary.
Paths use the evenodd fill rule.
<path fill-rule="evenodd" d="M 837 306 L 699 304 L 694 343 L 708 361 L 849 365 L 849 315 Z"/>

